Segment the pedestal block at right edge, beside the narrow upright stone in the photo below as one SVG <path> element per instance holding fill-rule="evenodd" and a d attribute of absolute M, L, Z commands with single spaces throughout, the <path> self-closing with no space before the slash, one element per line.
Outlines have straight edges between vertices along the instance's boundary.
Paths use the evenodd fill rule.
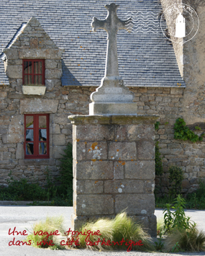
<path fill-rule="evenodd" d="M 154 180 L 155 161 L 133 161 L 124 165 L 125 179 Z"/>

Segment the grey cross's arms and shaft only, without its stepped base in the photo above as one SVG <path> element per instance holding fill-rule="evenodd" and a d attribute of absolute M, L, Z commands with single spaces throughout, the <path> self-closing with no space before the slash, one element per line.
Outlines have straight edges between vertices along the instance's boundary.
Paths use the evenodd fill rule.
<path fill-rule="evenodd" d="M 132 19 L 121 20 L 117 17 L 117 4 L 106 4 L 106 9 L 108 11 L 107 17 L 104 20 L 99 20 L 96 17 L 93 18 L 91 26 L 93 31 L 98 29 L 106 30 L 108 37 L 107 51 L 106 51 L 106 68 L 105 76 L 119 76 L 118 71 L 118 59 L 117 59 L 117 31 L 127 30 L 129 21 Z"/>

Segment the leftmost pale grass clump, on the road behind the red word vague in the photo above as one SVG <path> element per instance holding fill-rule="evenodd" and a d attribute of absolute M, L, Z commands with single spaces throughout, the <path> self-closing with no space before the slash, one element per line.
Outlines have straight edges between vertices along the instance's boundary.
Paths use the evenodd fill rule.
<path fill-rule="evenodd" d="M 33 231 L 30 232 L 26 238 L 26 241 L 31 240 L 33 247 L 47 248 L 51 247 L 53 250 L 64 249 L 58 242 L 58 236 L 53 233 L 58 230 L 61 234 L 64 234 L 63 229 L 63 217 L 47 217 L 45 221 L 37 222 L 32 226 Z M 40 232 L 42 231 L 42 232 Z M 46 234 L 42 234 L 47 232 Z M 51 234 L 51 235 L 48 235 Z"/>

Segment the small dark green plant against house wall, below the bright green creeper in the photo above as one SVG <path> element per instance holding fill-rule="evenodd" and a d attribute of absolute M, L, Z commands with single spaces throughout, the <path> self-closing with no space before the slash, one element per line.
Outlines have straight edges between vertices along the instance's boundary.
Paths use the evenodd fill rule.
<path fill-rule="evenodd" d="M 183 171 L 181 167 L 171 166 L 168 169 L 171 188 L 169 190 L 170 196 L 176 198 L 176 195 L 181 193 L 182 189 L 182 180 L 183 180 Z"/>

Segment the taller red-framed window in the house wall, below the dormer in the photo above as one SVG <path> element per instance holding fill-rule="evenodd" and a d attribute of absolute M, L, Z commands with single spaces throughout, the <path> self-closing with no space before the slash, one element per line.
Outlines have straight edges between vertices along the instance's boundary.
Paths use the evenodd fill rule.
<path fill-rule="evenodd" d="M 49 158 L 49 114 L 24 115 L 25 159 Z"/>

